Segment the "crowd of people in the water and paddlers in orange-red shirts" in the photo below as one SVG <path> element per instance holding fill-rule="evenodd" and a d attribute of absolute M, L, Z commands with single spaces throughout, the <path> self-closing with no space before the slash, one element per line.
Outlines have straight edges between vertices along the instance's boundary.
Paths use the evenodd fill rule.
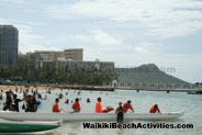
<path fill-rule="evenodd" d="M 15 111 L 19 112 L 20 106 L 19 103 L 23 102 L 22 110 L 25 112 L 36 112 L 37 109 L 42 106 L 42 94 L 37 92 L 36 90 L 31 91 L 32 94 L 29 94 L 29 91 L 23 91 L 23 99 L 19 99 L 18 94 L 13 93 L 11 90 L 5 92 L 5 102 L 3 103 L 3 111 Z M 50 92 L 49 92 L 50 93 Z M 79 93 L 80 94 L 80 93 Z M 66 93 L 68 95 L 68 93 Z M 55 99 L 55 102 L 52 105 L 52 112 L 58 113 L 60 111 L 68 112 L 68 113 L 79 113 L 81 111 L 80 106 L 80 100 L 79 98 L 76 98 L 75 101 L 71 101 L 71 109 L 72 111 L 67 111 L 65 109 L 59 108 L 59 100 L 61 99 L 61 93 L 58 94 L 58 98 Z M 47 99 L 47 95 L 44 98 Z M 2 91 L 0 92 L 0 100 L 2 100 Z M 90 103 L 90 99 L 87 99 L 87 103 Z M 119 102 L 117 108 L 114 110 L 112 106 L 106 106 L 104 110 L 102 109 L 102 99 L 98 98 L 96 105 L 94 105 L 94 113 L 108 113 L 111 111 L 115 111 L 116 120 L 123 121 L 124 113 L 127 113 L 128 111 L 134 113 L 134 108 L 132 106 L 132 101 L 127 100 L 125 103 Z M 67 99 L 65 103 L 69 103 L 69 100 Z M 149 109 L 149 113 L 160 113 L 160 110 L 157 104 L 154 104 Z"/>

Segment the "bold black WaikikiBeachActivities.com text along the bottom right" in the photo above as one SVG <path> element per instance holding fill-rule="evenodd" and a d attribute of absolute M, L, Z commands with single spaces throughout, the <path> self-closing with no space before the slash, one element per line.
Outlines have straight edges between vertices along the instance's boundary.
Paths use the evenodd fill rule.
<path fill-rule="evenodd" d="M 83 128 L 193 128 L 193 124 L 168 123 L 82 123 Z"/>

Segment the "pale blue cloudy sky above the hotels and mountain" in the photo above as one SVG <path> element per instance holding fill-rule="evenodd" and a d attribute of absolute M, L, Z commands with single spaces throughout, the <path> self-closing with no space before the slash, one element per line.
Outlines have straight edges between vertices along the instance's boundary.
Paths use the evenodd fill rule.
<path fill-rule="evenodd" d="M 202 82 L 202 0 L 0 0 L 19 52 L 83 48 L 83 60 L 155 64 Z"/>

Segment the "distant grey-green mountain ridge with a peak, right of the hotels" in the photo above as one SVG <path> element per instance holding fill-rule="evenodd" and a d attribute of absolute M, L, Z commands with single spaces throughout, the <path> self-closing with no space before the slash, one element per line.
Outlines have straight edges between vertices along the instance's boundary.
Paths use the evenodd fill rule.
<path fill-rule="evenodd" d="M 115 71 L 119 75 L 119 82 L 190 85 L 190 82 L 167 75 L 155 64 L 142 65 L 136 68 L 115 68 Z"/>

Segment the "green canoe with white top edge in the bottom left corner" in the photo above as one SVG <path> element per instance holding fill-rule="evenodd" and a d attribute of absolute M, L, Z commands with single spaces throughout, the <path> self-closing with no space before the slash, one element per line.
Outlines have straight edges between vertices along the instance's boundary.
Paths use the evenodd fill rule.
<path fill-rule="evenodd" d="M 54 130 L 61 126 L 59 121 L 7 121 L 0 120 L 0 133 L 31 133 Z"/>

